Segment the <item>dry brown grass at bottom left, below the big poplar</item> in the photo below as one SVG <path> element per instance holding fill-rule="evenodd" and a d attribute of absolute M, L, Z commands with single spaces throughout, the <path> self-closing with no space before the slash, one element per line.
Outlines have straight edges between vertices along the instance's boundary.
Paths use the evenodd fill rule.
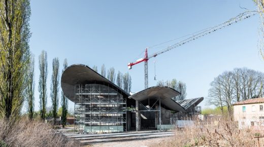
<path fill-rule="evenodd" d="M 2 144 L 1 144 L 2 143 Z M 21 120 L 10 124 L 0 120 L 0 146 L 80 146 L 42 121 Z"/>

